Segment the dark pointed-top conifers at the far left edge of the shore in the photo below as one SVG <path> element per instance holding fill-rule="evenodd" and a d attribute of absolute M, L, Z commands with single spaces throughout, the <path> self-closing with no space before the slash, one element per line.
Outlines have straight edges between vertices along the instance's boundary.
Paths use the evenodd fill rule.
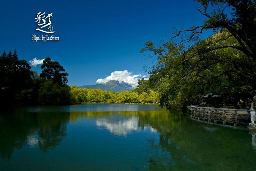
<path fill-rule="evenodd" d="M 18 60 L 16 49 L 0 56 L 0 94 L 2 105 L 26 103 L 31 97 L 31 67 L 25 60 Z"/>

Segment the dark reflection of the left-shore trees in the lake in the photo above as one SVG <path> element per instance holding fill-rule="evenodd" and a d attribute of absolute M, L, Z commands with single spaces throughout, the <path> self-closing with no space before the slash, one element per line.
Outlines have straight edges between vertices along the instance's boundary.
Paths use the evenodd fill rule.
<path fill-rule="evenodd" d="M 42 152 L 57 146 L 66 136 L 68 112 L 28 113 L 25 109 L 15 110 L 0 116 L 0 156 L 10 161 L 14 150 L 29 144 L 29 137 L 37 133 L 35 144 Z"/>

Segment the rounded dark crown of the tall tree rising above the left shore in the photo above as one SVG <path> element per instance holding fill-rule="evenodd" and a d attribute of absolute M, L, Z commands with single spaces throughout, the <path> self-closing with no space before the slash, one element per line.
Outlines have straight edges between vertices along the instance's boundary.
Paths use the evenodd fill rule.
<path fill-rule="evenodd" d="M 43 69 L 40 77 L 44 78 L 46 81 L 53 81 L 58 83 L 60 86 L 68 83 L 68 73 L 64 72 L 63 66 L 61 66 L 58 62 L 52 62 L 51 58 L 46 57 L 41 66 Z"/>

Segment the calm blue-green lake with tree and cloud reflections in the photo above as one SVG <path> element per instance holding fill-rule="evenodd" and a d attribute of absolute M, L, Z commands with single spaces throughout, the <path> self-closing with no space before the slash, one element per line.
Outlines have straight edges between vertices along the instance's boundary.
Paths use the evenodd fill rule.
<path fill-rule="evenodd" d="M 246 128 L 150 104 L 12 109 L 0 115 L 0 170 L 255 170 Z"/>

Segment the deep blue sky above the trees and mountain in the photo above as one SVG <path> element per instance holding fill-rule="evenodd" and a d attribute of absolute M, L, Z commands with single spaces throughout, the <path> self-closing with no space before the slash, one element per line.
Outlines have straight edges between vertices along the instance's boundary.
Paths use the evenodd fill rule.
<path fill-rule="evenodd" d="M 161 38 L 167 39 L 166 29 L 173 24 L 180 23 L 188 29 L 202 25 L 205 19 L 193 0 L 2 1 L 0 4 L 0 52 L 16 48 L 19 59 L 27 62 L 35 57 L 50 57 L 68 72 L 68 85 L 78 86 L 94 85 L 98 79 L 118 77 L 116 74 L 136 81 L 139 77 L 134 76 L 147 74 L 142 66 L 152 64 L 139 53 L 145 41 L 159 44 Z M 36 31 L 40 27 L 35 19 L 38 12 L 53 14 L 52 35 L 59 36 L 59 41 L 32 41 L 32 34 L 51 35 Z M 31 70 L 40 74 L 40 66 L 32 66 Z"/>

